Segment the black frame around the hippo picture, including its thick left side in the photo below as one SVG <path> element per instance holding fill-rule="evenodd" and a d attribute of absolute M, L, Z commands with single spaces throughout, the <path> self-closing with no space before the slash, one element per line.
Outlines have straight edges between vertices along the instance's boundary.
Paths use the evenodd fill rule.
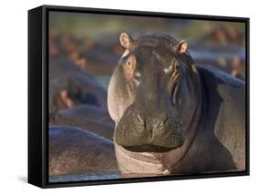
<path fill-rule="evenodd" d="M 79 182 L 48 182 L 48 19 L 50 11 L 107 15 L 160 16 L 246 24 L 246 170 L 151 178 L 88 180 Z M 157 12 L 82 8 L 42 5 L 28 11 L 28 182 L 40 188 L 102 185 L 173 179 L 201 179 L 243 176 L 250 174 L 250 19 L 216 15 L 184 15 Z"/>

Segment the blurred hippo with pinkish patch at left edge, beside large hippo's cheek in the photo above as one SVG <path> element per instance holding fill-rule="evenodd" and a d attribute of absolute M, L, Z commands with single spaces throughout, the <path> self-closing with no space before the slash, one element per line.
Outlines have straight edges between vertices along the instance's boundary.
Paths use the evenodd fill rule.
<path fill-rule="evenodd" d="M 49 111 L 94 105 L 107 111 L 107 92 L 93 76 L 62 56 L 49 59 Z"/>

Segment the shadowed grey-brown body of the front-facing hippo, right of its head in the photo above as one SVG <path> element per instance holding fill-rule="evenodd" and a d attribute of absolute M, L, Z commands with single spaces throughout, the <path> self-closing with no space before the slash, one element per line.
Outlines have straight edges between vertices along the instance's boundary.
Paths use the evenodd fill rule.
<path fill-rule="evenodd" d="M 171 171 L 245 170 L 245 82 L 218 70 L 198 70 L 203 96 L 200 125 L 185 157 Z"/>

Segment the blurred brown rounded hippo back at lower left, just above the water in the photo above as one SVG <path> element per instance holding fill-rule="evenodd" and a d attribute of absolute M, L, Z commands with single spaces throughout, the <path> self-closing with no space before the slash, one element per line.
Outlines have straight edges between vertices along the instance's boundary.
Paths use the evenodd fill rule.
<path fill-rule="evenodd" d="M 49 175 L 118 171 L 113 141 L 74 127 L 49 127 Z"/>

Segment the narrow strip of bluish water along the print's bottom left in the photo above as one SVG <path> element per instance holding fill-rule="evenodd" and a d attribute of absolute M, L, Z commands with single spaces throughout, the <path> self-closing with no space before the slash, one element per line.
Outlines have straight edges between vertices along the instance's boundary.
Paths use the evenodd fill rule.
<path fill-rule="evenodd" d="M 88 172 L 86 174 L 60 175 L 49 178 L 49 182 L 72 182 L 85 180 L 120 179 L 118 171 L 111 172 Z"/>

